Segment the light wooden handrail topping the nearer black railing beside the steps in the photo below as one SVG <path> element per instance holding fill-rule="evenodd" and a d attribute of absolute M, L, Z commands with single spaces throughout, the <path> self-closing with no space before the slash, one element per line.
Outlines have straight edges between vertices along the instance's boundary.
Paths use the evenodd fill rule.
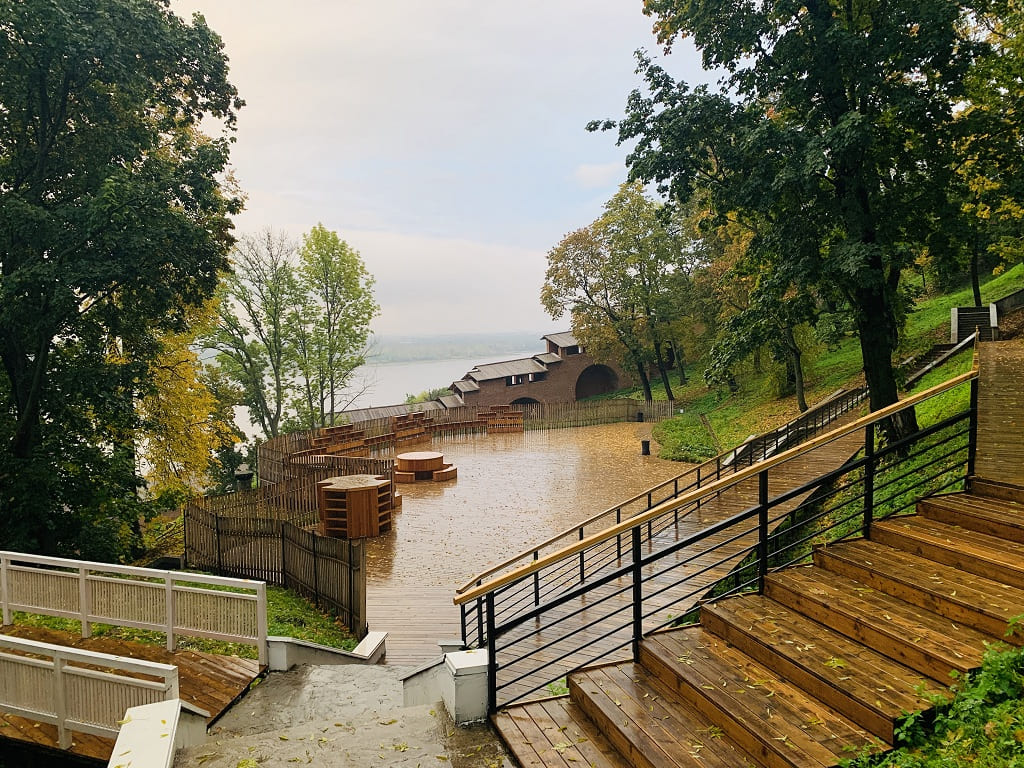
<path fill-rule="evenodd" d="M 465 603 L 470 602 L 471 600 L 475 600 L 478 597 L 482 597 L 488 592 L 493 592 L 494 590 L 497 590 L 508 584 L 517 582 L 523 579 L 524 577 L 528 577 L 531 573 L 535 573 L 543 568 L 546 568 L 547 566 L 553 563 L 556 563 L 560 560 L 577 555 L 580 552 L 583 552 L 584 550 L 587 550 L 597 544 L 601 544 L 602 542 L 613 539 L 614 537 L 621 534 L 625 534 L 631 530 L 632 528 L 636 527 L 637 525 L 643 525 L 644 523 L 653 520 L 657 517 L 660 517 L 662 515 L 668 512 L 672 512 L 673 510 L 679 509 L 680 507 L 692 504 L 696 502 L 698 499 L 703 499 L 705 497 L 712 496 L 714 494 L 719 493 L 720 490 L 724 490 L 725 488 L 735 485 L 750 477 L 754 477 L 755 475 L 758 475 L 767 469 L 777 467 L 778 465 L 784 464 L 791 459 L 795 459 L 798 456 L 803 456 L 804 454 L 810 453 L 811 451 L 814 451 L 815 449 L 821 445 L 825 445 L 829 442 L 833 442 L 834 440 L 838 440 L 841 437 L 845 437 L 848 434 L 852 434 L 853 432 L 863 429 L 869 424 L 876 424 L 880 421 L 888 419 L 890 416 L 893 416 L 894 414 L 897 414 L 900 411 L 903 411 L 912 406 L 916 406 L 919 402 L 923 402 L 927 399 L 935 397 L 936 395 L 942 394 L 943 392 L 953 389 L 959 386 L 961 384 L 969 382 L 972 379 L 976 379 L 977 377 L 978 377 L 978 362 L 977 362 L 977 352 L 976 352 L 974 368 L 971 371 L 967 372 L 966 374 L 961 374 L 959 376 L 949 379 L 948 381 L 942 382 L 941 384 L 937 384 L 936 386 L 931 387 L 930 389 L 926 389 L 924 392 L 910 395 L 909 397 L 903 400 L 894 402 L 891 406 L 887 406 L 886 408 L 880 409 L 879 411 L 874 411 L 873 413 L 861 417 L 860 419 L 857 419 L 855 422 L 848 424 L 845 427 L 839 427 L 838 429 L 834 429 L 830 432 L 826 432 L 822 435 L 818 435 L 817 437 L 813 437 L 801 445 L 792 447 L 788 451 L 783 451 L 781 454 L 773 456 L 757 464 L 753 464 L 750 467 L 746 467 L 745 469 L 738 470 L 734 474 L 730 474 L 728 477 L 724 477 L 719 480 L 714 480 L 701 488 L 691 490 L 688 494 L 683 494 L 682 496 L 679 496 L 675 499 L 670 499 L 669 501 L 664 502 L 657 505 L 656 507 L 652 507 L 651 509 L 637 515 L 636 517 L 630 518 L 626 522 L 612 525 L 609 528 L 605 528 L 604 530 L 598 531 L 597 534 L 582 539 L 572 545 L 563 547 L 562 549 L 552 552 L 549 555 L 545 555 L 544 557 L 540 557 L 537 560 L 521 565 L 518 568 L 509 571 L 505 575 L 493 579 L 489 582 L 481 584 L 480 586 L 475 587 L 461 595 L 456 595 L 454 602 L 456 605 L 463 605 Z"/>

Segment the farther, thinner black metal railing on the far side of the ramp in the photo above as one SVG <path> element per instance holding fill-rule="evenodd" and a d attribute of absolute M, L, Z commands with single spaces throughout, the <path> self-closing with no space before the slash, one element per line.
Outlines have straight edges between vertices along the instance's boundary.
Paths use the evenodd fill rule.
<path fill-rule="evenodd" d="M 496 565 L 464 584 L 457 590 L 456 594 L 461 595 L 473 590 L 496 575 L 531 567 L 542 556 L 575 545 L 588 537 L 604 531 L 611 526 L 621 525 L 625 521 L 643 515 L 693 490 L 707 487 L 709 483 L 719 481 L 723 476 L 734 474 L 740 468 L 760 460 L 754 457 L 766 458 L 783 447 L 809 439 L 838 418 L 859 406 L 865 396 L 866 391 L 862 388 L 844 391 L 801 414 L 788 424 L 744 443 L 736 451 L 717 456 Z M 652 542 L 655 542 L 669 528 L 678 526 L 681 519 L 691 513 L 699 512 L 703 502 L 705 498 L 697 498 L 691 504 L 674 508 L 660 518 L 648 520 L 642 531 L 641 546 L 653 546 Z M 624 549 L 631 546 L 632 543 L 628 536 L 618 535 L 601 547 L 587 552 L 586 555 L 581 552 L 579 557 L 571 562 L 561 563 L 558 567 L 547 569 L 543 574 L 540 571 L 535 571 L 528 582 L 523 582 L 515 589 L 504 592 L 497 600 L 495 606 L 498 611 L 497 621 L 501 622 L 517 615 L 526 607 L 536 607 L 541 604 L 542 600 L 550 599 L 554 595 L 586 583 L 588 579 L 602 574 L 604 570 L 612 567 L 623 557 Z M 486 635 L 486 629 L 484 627 L 484 612 L 481 607 L 482 604 L 478 603 L 463 603 L 461 606 L 462 637 L 469 647 L 482 647 L 483 645 L 482 639 Z"/>

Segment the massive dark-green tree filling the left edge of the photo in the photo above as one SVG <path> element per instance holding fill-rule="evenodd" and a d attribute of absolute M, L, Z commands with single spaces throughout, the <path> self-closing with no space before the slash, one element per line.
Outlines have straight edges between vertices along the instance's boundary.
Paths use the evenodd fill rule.
<path fill-rule="evenodd" d="M 113 558 L 158 339 L 226 267 L 242 102 L 220 39 L 162 0 L 0 0 L 0 528 Z"/>

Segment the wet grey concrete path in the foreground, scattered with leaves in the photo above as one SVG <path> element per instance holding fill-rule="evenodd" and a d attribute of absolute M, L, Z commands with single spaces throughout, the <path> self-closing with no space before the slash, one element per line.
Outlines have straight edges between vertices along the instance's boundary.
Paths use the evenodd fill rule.
<path fill-rule="evenodd" d="M 510 768 L 485 724 L 457 728 L 440 703 L 402 708 L 397 667 L 274 673 L 174 765 L 203 768 Z"/>

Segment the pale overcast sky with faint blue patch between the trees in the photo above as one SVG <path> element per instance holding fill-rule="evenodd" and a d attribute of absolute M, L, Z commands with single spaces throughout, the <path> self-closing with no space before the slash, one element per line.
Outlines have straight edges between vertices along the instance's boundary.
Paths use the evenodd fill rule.
<path fill-rule="evenodd" d="M 247 105 L 239 233 L 317 222 L 377 280 L 380 334 L 568 327 L 546 254 L 626 178 L 589 120 L 622 115 L 641 0 L 173 0 L 224 39 Z M 678 43 L 668 69 L 705 80 Z"/>

